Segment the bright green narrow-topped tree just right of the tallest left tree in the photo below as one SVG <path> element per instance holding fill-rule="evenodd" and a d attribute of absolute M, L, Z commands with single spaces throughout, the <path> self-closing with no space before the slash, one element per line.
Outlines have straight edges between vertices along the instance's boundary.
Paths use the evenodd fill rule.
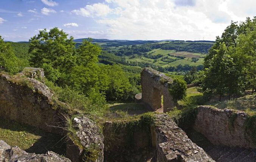
<path fill-rule="evenodd" d="M 100 78 L 100 68 L 97 65 L 98 56 L 101 53 L 99 46 L 90 41 L 83 43 L 76 49 L 76 66 L 71 67 L 65 84 L 70 84 L 77 90 L 87 94 L 92 89 L 98 91 L 106 85 Z"/>

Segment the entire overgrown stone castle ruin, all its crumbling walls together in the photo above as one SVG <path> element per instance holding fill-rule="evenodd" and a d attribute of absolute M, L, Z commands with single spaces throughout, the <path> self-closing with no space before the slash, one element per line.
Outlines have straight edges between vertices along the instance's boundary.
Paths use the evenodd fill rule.
<path fill-rule="evenodd" d="M 32 76 L 35 76 L 34 70 Z M 164 95 L 164 112 L 171 111 L 175 106 L 168 89 L 172 79 L 150 68 L 144 69 L 141 76 L 142 102 L 156 110 L 161 107 L 161 95 Z M 198 146 L 200 140 L 194 139 L 191 133 L 187 136 L 186 128 L 178 127 L 184 123 L 177 125 L 165 113 L 145 113 L 105 121 L 101 131 L 94 121 L 79 112 L 72 112 L 75 114 L 72 118 L 69 105 L 55 99 L 53 92 L 34 78 L 1 73 L 0 92 L 2 118 L 38 127 L 66 139 L 66 158 L 50 150 L 45 154 L 26 153 L 0 141 L 0 161 L 256 161 L 255 131 L 251 130 L 255 128 L 255 122 L 244 112 L 209 106 L 199 106 L 191 111 L 194 118 L 189 118 L 191 121 L 186 128 L 194 128 L 211 144 L 211 147 L 202 145 L 202 148 Z M 71 117 L 73 134 L 65 129 L 64 115 Z"/>

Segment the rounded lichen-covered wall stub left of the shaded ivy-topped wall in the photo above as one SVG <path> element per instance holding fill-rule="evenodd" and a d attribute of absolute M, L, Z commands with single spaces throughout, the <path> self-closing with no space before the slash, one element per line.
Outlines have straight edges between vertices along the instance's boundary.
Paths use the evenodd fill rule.
<path fill-rule="evenodd" d="M 77 116 L 73 119 L 73 127 L 80 145 L 76 145 L 75 141 L 69 138 L 66 156 L 72 162 L 103 162 L 103 134 L 100 133 L 97 124 L 85 116 Z"/>

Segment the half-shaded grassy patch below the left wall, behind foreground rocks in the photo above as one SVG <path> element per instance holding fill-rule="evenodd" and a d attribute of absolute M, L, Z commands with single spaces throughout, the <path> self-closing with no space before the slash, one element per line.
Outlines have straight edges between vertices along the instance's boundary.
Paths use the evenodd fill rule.
<path fill-rule="evenodd" d="M 10 146 L 17 145 L 29 153 L 42 154 L 51 150 L 65 155 L 65 139 L 61 139 L 62 136 L 57 134 L 45 133 L 38 128 L 0 119 L 0 140 L 5 141 Z"/>

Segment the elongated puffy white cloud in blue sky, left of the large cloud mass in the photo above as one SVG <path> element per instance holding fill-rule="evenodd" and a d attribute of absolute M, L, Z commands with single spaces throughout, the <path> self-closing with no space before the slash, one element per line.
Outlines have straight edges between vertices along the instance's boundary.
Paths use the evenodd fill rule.
<path fill-rule="evenodd" d="M 83 17 L 100 17 L 108 15 L 111 11 L 112 9 L 110 9 L 108 5 L 103 3 L 94 3 L 93 5 L 86 5 L 84 8 L 75 9 L 71 12 Z"/>

